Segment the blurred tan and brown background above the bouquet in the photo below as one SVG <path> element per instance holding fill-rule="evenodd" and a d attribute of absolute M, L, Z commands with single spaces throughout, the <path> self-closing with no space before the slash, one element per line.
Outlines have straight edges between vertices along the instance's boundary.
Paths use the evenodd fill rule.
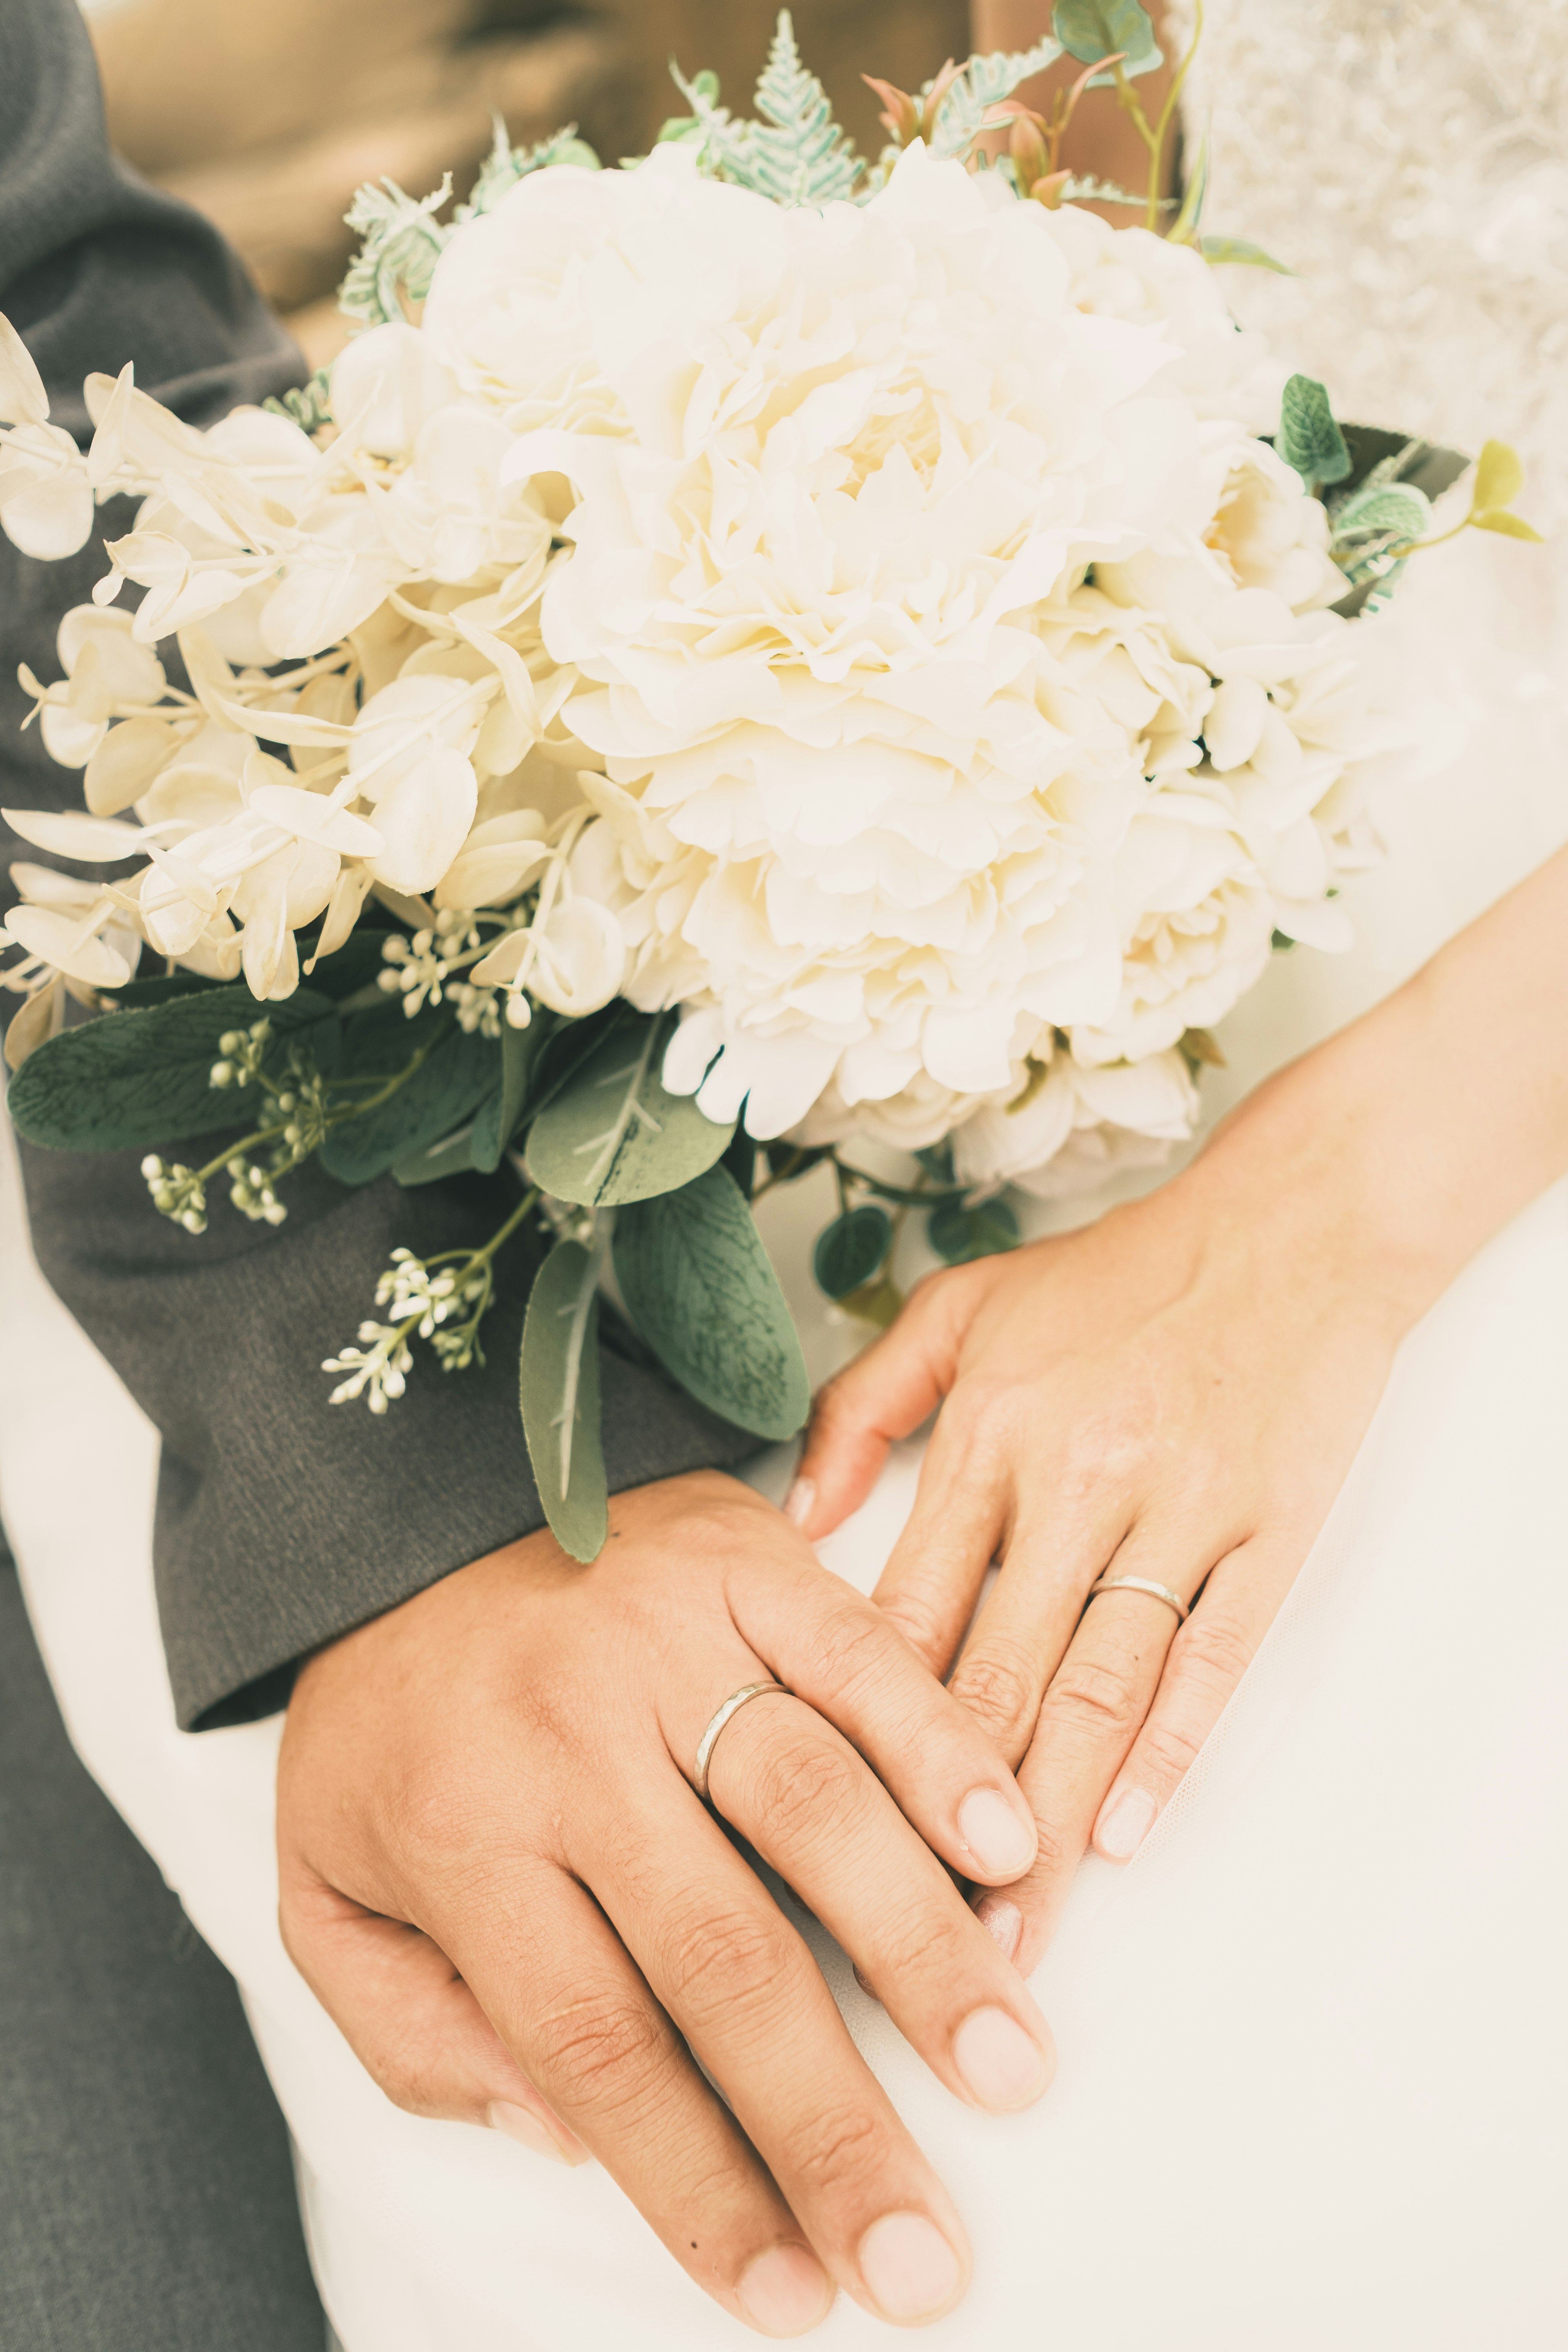
<path fill-rule="evenodd" d="M 576 120 L 607 160 L 682 113 L 670 82 L 712 66 L 745 113 L 773 0 L 87 0 L 118 148 L 207 212 L 320 362 L 343 327 L 343 209 L 388 174 L 465 193 L 491 113 L 517 143 Z M 877 153 L 860 73 L 917 89 L 969 54 L 964 0 L 797 0 L 802 56 Z"/>

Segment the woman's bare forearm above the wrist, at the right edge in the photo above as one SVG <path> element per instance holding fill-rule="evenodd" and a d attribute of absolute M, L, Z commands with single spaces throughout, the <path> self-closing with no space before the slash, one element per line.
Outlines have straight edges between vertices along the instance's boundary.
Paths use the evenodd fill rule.
<path fill-rule="evenodd" d="M 1182 1185 L 1305 1214 L 1326 1263 L 1413 1322 L 1563 1171 L 1568 849 L 1260 1087 Z"/>

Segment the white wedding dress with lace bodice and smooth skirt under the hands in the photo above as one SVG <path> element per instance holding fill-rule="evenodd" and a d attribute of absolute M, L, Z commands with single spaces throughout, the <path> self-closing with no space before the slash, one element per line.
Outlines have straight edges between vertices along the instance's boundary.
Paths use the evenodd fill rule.
<path fill-rule="evenodd" d="M 1314 270 L 1246 282 L 1237 308 L 1272 310 L 1345 414 L 1462 447 L 1521 442 L 1528 510 L 1568 520 L 1554 459 L 1568 376 L 1547 353 L 1568 318 L 1568 169 L 1552 146 L 1568 5 L 1211 0 L 1208 14 L 1213 226 Z M 1561 548 L 1460 541 L 1413 567 L 1378 626 L 1448 764 L 1382 811 L 1389 861 L 1352 901 L 1363 946 L 1276 957 L 1225 1023 L 1211 1115 L 1568 837 Z M 795 1235 L 818 1207 L 797 1188 L 769 1228 L 804 1312 Z M 240 1978 L 346 2352 L 738 2352 L 752 2338 L 602 2171 L 400 2114 L 294 1973 L 275 1926 L 280 1722 L 174 1729 L 153 1432 L 31 1263 L 9 1143 L 0 1216 L 0 1494 L 28 1606 L 87 1764 Z M 809 1348 L 827 1369 L 846 1331 L 816 1312 Z M 1034 1980 L 1060 2049 L 1034 2112 L 959 2107 L 806 1926 L 973 2237 L 973 2288 L 933 2347 L 1568 2340 L 1563 1430 L 1568 1185 L 1410 1336 L 1225 1722 L 1131 1867 L 1086 1863 Z M 900 1449 L 823 1545 L 863 1588 L 917 1465 L 919 1446 Z M 759 1479 L 785 1472 L 773 1458 Z M 816 2340 L 886 2336 L 839 2300 Z"/>

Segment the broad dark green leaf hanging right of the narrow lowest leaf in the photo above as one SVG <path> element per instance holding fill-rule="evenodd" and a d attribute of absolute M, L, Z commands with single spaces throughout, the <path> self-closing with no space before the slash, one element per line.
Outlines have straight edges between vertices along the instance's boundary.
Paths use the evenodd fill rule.
<path fill-rule="evenodd" d="M 618 1209 L 611 1254 L 637 1331 L 698 1404 L 757 1437 L 797 1432 L 806 1359 L 733 1176 L 712 1167 Z"/>

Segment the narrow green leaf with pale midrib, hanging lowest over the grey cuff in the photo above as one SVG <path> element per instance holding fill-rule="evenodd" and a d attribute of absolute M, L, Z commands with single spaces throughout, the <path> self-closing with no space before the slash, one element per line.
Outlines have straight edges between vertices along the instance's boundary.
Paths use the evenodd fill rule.
<path fill-rule="evenodd" d="M 609 1534 L 599 1435 L 599 1263 L 557 1242 L 529 1291 L 517 1399 L 538 1501 L 562 1552 L 597 1559 Z"/>

